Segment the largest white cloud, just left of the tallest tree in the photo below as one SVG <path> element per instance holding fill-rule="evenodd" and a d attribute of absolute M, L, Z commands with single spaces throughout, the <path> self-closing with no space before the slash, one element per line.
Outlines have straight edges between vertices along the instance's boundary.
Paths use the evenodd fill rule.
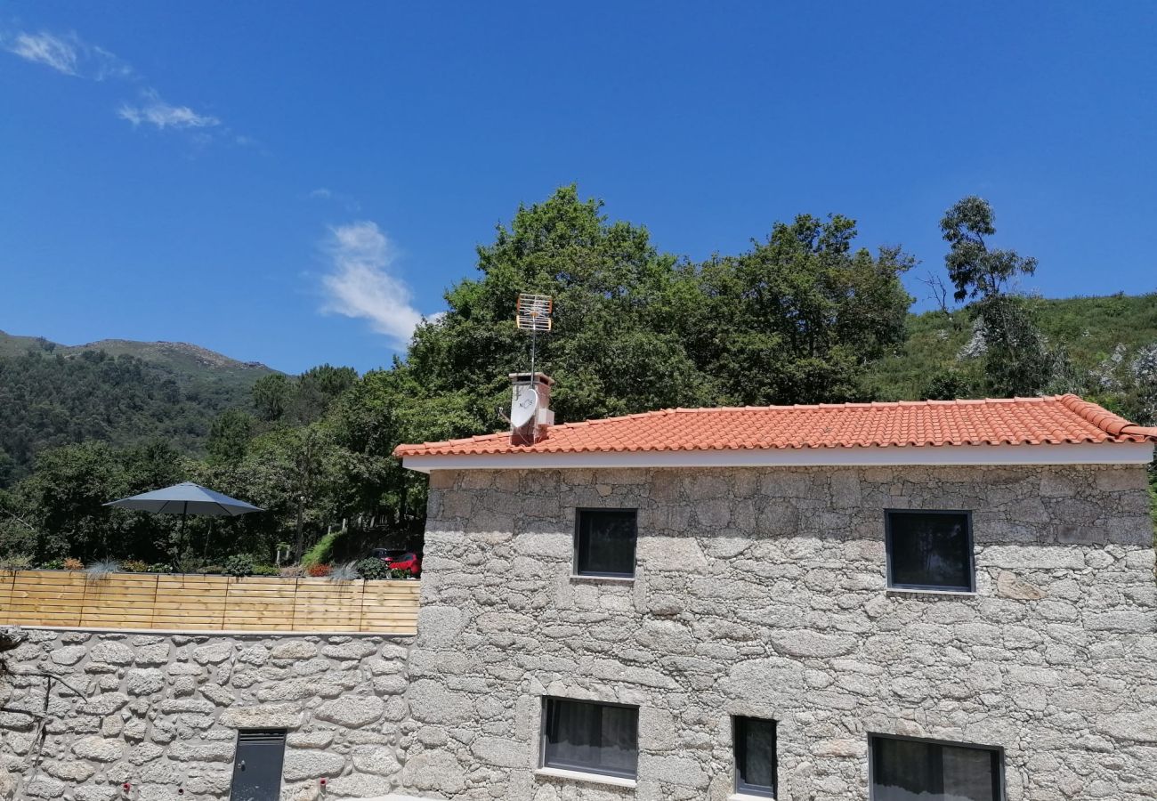
<path fill-rule="evenodd" d="M 391 270 L 393 248 L 377 223 L 330 228 L 324 250 L 330 269 L 322 277 L 322 311 L 366 319 L 393 347 L 404 348 L 422 315 L 412 304 L 410 286 Z"/>

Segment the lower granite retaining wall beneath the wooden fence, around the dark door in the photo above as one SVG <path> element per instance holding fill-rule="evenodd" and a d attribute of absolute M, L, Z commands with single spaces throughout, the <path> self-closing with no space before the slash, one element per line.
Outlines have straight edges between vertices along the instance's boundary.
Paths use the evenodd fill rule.
<path fill-rule="evenodd" d="M 228 799 L 245 728 L 288 730 L 286 801 L 318 799 L 322 778 L 327 799 L 397 785 L 410 638 L 21 634 L 0 674 L 0 799 Z M 22 713 L 45 712 L 32 673 L 60 679 L 43 719 Z"/>

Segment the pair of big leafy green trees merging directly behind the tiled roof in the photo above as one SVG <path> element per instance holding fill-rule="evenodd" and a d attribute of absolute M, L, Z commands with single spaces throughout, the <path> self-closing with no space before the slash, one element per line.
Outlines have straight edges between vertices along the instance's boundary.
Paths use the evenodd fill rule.
<path fill-rule="evenodd" d="M 495 427 L 507 374 L 529 367 L 514 322 L 529 291 L 554 299 L 537 363 L 558 382 L 561 420 L 854 397 L 864 365 L 902 340 L 899 275 L 912 264 L 899 248 L 854 249 L 855 235 L 847 218 L 801 215 L 747 253 L 695 265 L 566 186 L 479 248 L 480 277 L 447 293 L 449 311 L 418 330 L 405 368 L 464 392 L 472 431 Z"/>

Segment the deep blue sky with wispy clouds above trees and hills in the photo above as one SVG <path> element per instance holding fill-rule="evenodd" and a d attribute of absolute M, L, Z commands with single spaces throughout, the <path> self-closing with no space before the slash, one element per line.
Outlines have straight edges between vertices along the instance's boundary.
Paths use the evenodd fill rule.
<path fill-rule="evenodd" d="M 386 365 L 572 182 L 691 258 L 838 212 L 915 274 L 979 193 L 1025 288 L 1151 292 L 1155 36 L 1150 2 L 9 0 L 0 330 Z"/>

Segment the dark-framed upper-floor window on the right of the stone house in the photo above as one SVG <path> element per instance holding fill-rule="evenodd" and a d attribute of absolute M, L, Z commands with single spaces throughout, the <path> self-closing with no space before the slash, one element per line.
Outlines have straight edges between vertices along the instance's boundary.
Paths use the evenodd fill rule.
<path fill-rule="evenodd" d="M 971 513 L 889 510 L 885 538 L 889 587 L 975 589 Z"/>

